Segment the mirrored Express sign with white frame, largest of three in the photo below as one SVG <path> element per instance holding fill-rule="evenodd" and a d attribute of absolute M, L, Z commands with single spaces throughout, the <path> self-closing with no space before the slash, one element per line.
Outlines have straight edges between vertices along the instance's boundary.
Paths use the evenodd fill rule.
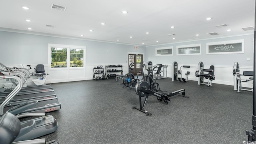
<path fill-rule="evenodd" d="M 206 54 L 239 54 L 244 53 L 244 40 L 230 40 L 206 43 Z"/>

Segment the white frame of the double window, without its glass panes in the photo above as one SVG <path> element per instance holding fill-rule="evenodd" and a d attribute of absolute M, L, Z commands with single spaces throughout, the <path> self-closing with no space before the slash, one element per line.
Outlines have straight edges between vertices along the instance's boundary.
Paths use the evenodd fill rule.
<path fill-rule="evenodd" d="M 51 67 L 51 58 L 52 58 L 52 47 L 54 48 L 67 48 L 67 67 L 65 68 L 52 68 Z M 84 59 L 82 67 L 70 67 L 70 49 L 84 49 Z M 86 46 L 74 46 L 74 45 L 64 45 L 64 44 L 48 44 L 48 66 L 50 70 L 61 70 L 61 69 L 74 69 L 74 68 L 85 68 L 86 64 Z"/>

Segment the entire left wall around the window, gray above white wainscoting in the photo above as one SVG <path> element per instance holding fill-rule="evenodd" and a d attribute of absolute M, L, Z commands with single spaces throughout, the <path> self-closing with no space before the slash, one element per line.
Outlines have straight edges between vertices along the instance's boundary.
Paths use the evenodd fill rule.
<path fill-rule="evenodd" d="M 48 65 L 48 44 L 62 44 L 86 47 L 86 64 L 84 68 L 50 70 Z M 67 82 L 76 80 L 91 80 L 93 68 L 98 65 L 121 64 L 124 74 L 128 72 L 128 52 L 146 54 L 145 46 L 115 44 L 73 38 L 60 38 L 35 34 L 0 31 L 0 62 L 6 66 L 20 66 L 30 64 L 44 64 L 48 76 L 48 83 Z"/>

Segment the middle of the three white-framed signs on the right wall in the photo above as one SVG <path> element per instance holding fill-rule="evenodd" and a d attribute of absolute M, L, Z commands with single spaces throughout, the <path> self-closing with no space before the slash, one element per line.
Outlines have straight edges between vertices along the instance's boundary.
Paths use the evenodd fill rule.
<path fill-rule="evenodd" d="M 177 56 L 178 55 L 199 55 L 201 54 L 201 44 L 190 44 L 177 46 Z"/>

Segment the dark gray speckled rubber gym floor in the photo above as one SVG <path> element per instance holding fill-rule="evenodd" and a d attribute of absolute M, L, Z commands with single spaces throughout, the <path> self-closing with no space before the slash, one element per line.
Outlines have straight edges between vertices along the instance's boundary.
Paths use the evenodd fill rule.
<path fill-rule="evenodd" d="M 252 128 L 252 92 L 233 86 L 197 85 L 196 81 L 160 79 L 161 90 L 186 90 L 190 98 L 173 96 L 169 104 L 149 96 L 144 113 L 135 90 L 121 80 L 86 80 L 52 84 L 60 110 L 48 114 L 58 130 L 43 136 L 60 144 L 242 144 Z"/>

